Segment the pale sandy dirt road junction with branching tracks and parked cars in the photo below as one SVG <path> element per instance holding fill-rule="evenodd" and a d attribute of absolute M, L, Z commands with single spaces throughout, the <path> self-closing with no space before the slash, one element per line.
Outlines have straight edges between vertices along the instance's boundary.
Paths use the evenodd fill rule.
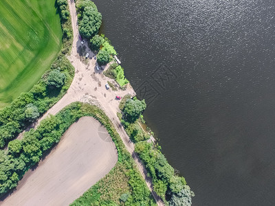
<path fill-rule="evenodd" d="M 152 180 L 146 176 L 146 168 L 142 164 L 142 161 L 140 161 L 139 157 L 137 157 L 135 152 L 133 152 L 134 144 L 129 139 L 129 136 L 121 126 L 120 120 L 116 115 L 118 112 L 120 112 L 120 109 L 118 108 L 119 101 L 115 100 L 115 96 L 118 95 L 123 97 L 126 94 L 134 96 L 135 91 L 133 91 L 130 84 L 124 91 L 120 89 L 118 89 L 118 91 L 112 91 L 111 89 L 107 90 L 105 88 L 104 85 L 107 83 L 107 81 L 112 82 L 115 85 L 118 84 L 114 80 L 104 76 L 102 71 L 96 71 L 96 58 L 93 52 L 91 52 L 91 50 L 87 47 L 87 43 L 81 45 L 79 40 L 76 5 L 74 0 L 68 0 L 68 2 L 70 14 L 72 16 L 74 42 L 72 47 L 72 54 L 67 58 L 72 62 L 72 65 L 75 68 L 74 80 L 63 98 L 54 106 L 52 106 L 52 108 L 50 108 L 50 110 L 47 111 L 47 113 L 45 113 L 45 115 L 43 115 L 43 117 L 41 117 L 38 122 L 36 122 L 36 125 L 38 125 L 39 122 L 41 122 L 42 119 L 45 119 L 45 117 L 48 115 L 56 115 L 58 111 L 71 104 L 72 102 L 86 102 L 102 108 L 102 110 L 111 119 L 111 122 L 113 122 L 113 125 L 122 138 L 126 149 L 131 153 L 135 163 L 137 164 L 137 168 L 140 170 L 140 173 L 146 180 L 146 184 L 148 185 L 149 190 L 157 201 L 157 205 L 164 205 L 159 196 L 157 196 L 157 194 L 155 194 L 153 191 Z M 82 52 L 84 50 L 85 52 Z M 83 53 L 83 56 L 80 56 L 79 53 Z M 84 57 L 86 53 L 89 53 L 89 58 L 87 60 L 85 60 Z M 19 135 L 19 138 L 20 136 L 21 135 Z"/>

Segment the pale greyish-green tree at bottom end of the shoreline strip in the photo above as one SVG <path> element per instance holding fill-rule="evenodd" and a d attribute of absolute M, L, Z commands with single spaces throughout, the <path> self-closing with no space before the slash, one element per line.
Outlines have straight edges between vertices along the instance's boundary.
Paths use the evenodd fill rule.
<path fill-rule="evenodd" d="M 184 189 L 182 189 L 178 193 L 173 193 L 169 205 L 171 206 L 191 206 L 192 205 L 192 197 L 195 196 L 194 192 L 190 190 L 188 185 L 184 185 Z"/>

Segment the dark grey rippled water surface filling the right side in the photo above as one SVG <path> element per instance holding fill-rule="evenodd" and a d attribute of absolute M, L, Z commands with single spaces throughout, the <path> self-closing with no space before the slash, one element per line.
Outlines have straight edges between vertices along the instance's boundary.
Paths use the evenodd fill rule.
<path fill-rule="evenodd" d="M 193 205 L 275 205 L 275 1 L 95 3 Z"/>

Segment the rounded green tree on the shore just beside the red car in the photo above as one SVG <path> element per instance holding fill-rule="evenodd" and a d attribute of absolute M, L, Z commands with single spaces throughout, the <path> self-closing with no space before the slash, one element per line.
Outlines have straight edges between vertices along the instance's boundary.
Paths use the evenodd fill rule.
<path fill-rule="evenodd" d="M 123 110 L 124 116 L 128 122 L 135 122 L 140 117 L 145 108 L 145 100 L 140 101 L 128 99 L 126 100 Z"/>

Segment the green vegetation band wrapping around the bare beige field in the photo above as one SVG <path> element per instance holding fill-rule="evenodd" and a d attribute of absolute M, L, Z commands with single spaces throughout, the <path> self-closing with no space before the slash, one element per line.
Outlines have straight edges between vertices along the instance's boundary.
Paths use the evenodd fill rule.
<path fill-rule="evenodd" d="M 98 119 L 107 129 L 118 150 L 118 163 L 72 205 L 155 205 L 144 179 L 110 119 L 100 108 L 80 102 L 63 108 L 56 116 L 47 117 L 36 130 L 24 133 L 23 139 L 10 141 L 8 151 L 0 150 L 0 194 L 16 187 L 25 172 L 39 162 L 43 153 L 60 141 L 71 124 L 83 116 Z"/>

